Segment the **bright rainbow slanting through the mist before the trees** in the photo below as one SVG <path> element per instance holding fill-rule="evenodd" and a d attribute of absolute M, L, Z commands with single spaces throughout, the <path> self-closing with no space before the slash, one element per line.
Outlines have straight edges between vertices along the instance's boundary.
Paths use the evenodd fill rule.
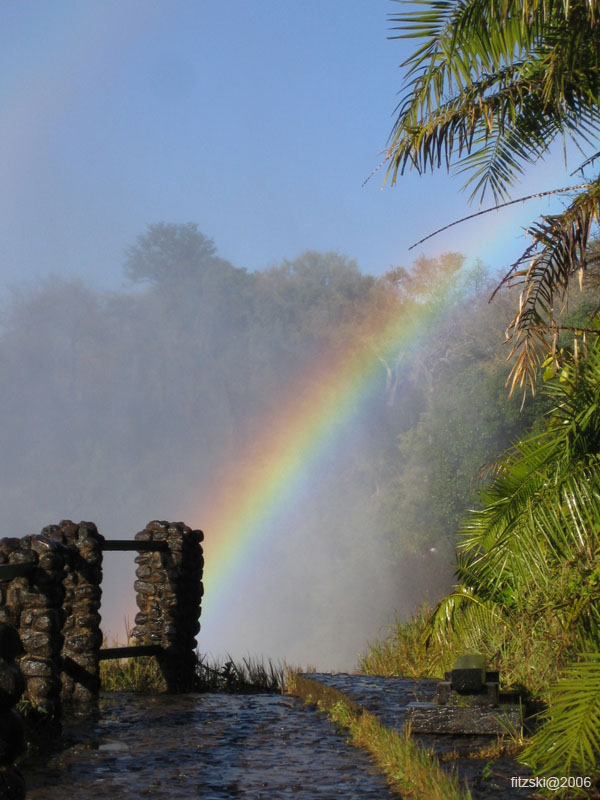
<path fill-rule="evenodd" d="M 221 617 L 234 602 L 242 574 L 251 572 L 262 548 L 284 526 L 286 514 L 367 398 L 381 386 L 382 361 L 417 347 L 425 330 L 443 316 L 456 286 L 440 281 L 436 302 L 384 304 L 359 324 L 339 349 L 322 355 L 299 376 L 259 425 L 260 434 L 222 471 L 203 508 L 189 515 L 205 532 L 204 610 Z M 258 443 L 257 443 L 258 442 Z"/>

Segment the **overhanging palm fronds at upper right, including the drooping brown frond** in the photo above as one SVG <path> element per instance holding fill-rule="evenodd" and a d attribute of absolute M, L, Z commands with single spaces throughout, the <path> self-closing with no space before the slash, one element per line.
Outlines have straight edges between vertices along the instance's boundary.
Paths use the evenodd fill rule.
<path fill-rule="evenodd" d="M 405 2 L 405 0 L 396 0 Z M 471 197 L 489 191 L 496 207 L 557 137 L 583 152 L 593 169 L 600 129 L 599 0 L 414 0 L 392 15 L 393 38 L 419 46 L 403 63 L 405 92 L 386 153 L 392 184 L 407 169 L 467 174 Z M 503 283 L 522 284 L 509 328 L 515 386 L 533 390 L 537 367 L 556 336 L 557 297 L 589 262 L 600 213 L 600 175 L 575 187 L 561 214 L 529 228 L 532 243 Z M 557 189 L 556 192 L 568 191 Z M 515 201 L 512 201 L 515 202 Z"/>

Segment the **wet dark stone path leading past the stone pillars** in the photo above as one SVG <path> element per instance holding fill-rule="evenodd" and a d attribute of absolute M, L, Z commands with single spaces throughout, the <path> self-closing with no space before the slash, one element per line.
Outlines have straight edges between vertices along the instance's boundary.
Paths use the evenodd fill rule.
<path fill-rule="evenodd" d="M 333 723 L 280 695 L 106 693 L 67 747 L 24 765 L 28 800 L 397 798 Z"/>

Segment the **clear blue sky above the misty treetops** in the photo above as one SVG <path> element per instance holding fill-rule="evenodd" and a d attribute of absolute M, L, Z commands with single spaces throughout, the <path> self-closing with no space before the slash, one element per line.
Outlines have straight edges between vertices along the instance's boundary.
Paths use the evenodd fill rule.
<path fill-rule="evenodd" d="M 488 215 L 460 176 L 382 189 L 398 102 L 391 0 L 6 0 L 0 26 L 2 284 L 50 273 L 122 285 L 149 223 L 196 222 L 261 269 L 338 250 L 365 272 L 460 250 L 493 268 L 548 200 Z M 576 164 L 573 165 L 574 168 Z M 569 183 L 557 157 L 521 189 Z M 572 181 L 571 181 L 572 182 Z"/>

